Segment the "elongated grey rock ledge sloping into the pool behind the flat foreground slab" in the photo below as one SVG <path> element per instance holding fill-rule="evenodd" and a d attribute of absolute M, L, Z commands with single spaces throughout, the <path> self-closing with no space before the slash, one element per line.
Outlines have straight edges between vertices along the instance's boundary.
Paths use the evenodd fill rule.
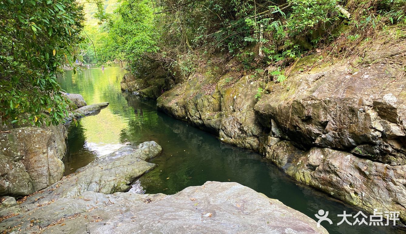
<path fill-rule="evenodd" d="M 42 191 L 43 200 L 58 197 L 78 197 L 83 192 L 94 191 L 104 194 L 124 192 L 135 178 L 155 168 L 155 164 L 146 162 L 158 156 L 162 151 L 154 141 L 137 146 L 126 145 L 108 155 L 99 157 L 76 173 L 64 177 L 61 181 Z"/>

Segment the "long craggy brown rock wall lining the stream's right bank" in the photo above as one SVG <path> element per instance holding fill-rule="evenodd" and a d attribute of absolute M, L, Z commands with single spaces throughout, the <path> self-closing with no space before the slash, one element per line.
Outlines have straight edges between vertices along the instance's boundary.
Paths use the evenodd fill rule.
<path fill-rule="evenodd" d="M 309 67 L 304 57 L 283 83 L 241 74 L 232 60 L 212 64 L 162 94 L 158 109 L 333 197 L 406 221 L 405 55 L 397 40 L 357 64 Z"/>

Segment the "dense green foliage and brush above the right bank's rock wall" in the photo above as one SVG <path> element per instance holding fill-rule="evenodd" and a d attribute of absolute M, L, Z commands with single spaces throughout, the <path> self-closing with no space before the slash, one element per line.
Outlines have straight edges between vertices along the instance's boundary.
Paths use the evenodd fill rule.
<path fill-rule="evenodd" d="M 126 11 L 133 4 L 141 10 Z M 334 56 L 343 56 L 378 28 L 404 23 L 405 5 L 405 0 L 123 0 L 114 23 L 106 26 L 111 40 L 101 53 L 112 55 L 103 61 L 121 55 L 132 68 L 144 66 L 139 59 L 159 61 L 177 79 L 188 77 L 212 53 L 223 52 L 251 72 L 279 67 L 270 72 L 279 72 L 273 74 L 275 81 L 283 82 L 287 75 L 281 70 L 306 52 L 330 45 Z M 146 27 L 117 31 L 116 26 L 127 25 L 126 18 Z M 121 43 L 120 31 L 145 34 L 145 46 L 139 39 Z M 123 49 L 129 44 L 132 49 Z"/>

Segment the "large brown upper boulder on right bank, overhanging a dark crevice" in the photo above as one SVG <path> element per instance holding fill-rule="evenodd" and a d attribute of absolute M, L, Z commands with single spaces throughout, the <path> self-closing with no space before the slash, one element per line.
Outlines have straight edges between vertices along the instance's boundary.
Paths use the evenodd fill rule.
<path fill-rule="evenodd" d="M 292 82 L 289 92 L 264 94 L 255 105 L 261 125 L 269 126 L 274 120 L 285 135 L 300 142 L 303 148 L 350 151 L 369 144 L 375 149 L 374 157 L 369 159 L 393 166 L 406 164 L 406 148 L 392 146 L 388 141 L 402 145 L 406 139 L 406 116 L 400 115 L 406 111 L 402 104 L 406 102 L 402 98 L 406 80 L 391 83 L 384 72 L 386 68 L 380 65 L 360 68 L 348 78 L 345 67 L 329 69 L 318 72 L 320 79 L 307 83 L 303 92 L 297 90 L 313 75 L 292 77 L 287 81 Z M 298 85 L 293 88 L 295 83 Z M 377 86 L 386 88 L 376 89 Z"/>

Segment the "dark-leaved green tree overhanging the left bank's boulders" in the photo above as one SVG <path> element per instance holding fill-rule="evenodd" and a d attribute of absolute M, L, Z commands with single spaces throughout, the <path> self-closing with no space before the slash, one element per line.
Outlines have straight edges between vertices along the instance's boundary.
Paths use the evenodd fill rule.
<path fill-rule="evenodd" d="M 3 0 L 0 4 L 0 117 L 56 125 L 68 114 L 56 74 L 73 66 L 86 41 L 82 6 L 72 0 Z M 76 72 L 76 68 L 73 68 Z"/>

